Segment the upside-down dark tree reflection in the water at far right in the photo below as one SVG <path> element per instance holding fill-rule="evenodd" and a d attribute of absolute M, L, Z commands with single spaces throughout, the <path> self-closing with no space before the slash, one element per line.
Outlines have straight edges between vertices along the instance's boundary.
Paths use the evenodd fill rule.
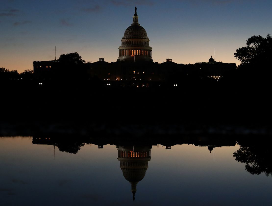
<path fill-rule="evenodd" d="M 251 174 L 265 173 L 272 176 L 271 151 L 268 145 L 256 142 L 240 144 L 240 149 L 233 153 L 235 160 L 246 164 L 246 171 Z"/>

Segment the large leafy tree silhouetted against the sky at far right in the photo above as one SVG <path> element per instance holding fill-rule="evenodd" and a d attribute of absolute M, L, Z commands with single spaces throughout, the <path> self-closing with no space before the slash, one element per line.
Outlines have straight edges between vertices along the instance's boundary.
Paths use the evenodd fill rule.
<path fill-rule="evenodd" d="M 246 41 L 246 47 L 236 49 L 234 57 L 241 61 L 241 65 L 246 64 L 267 64 L 272 56 L 272 37 L 267 34 L 262 36 L 252 36 Z"/>

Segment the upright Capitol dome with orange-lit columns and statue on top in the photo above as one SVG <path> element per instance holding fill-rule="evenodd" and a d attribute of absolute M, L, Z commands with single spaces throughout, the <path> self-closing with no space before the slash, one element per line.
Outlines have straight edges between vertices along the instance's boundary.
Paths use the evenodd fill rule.
<path fill-rule="evenodd" d="M 152 47 L 149 46 L 146 30 L 138 23 L 136 7 L 133 23 L 126 29 L 121 39 L 117 61 L 153 61 Z"/>

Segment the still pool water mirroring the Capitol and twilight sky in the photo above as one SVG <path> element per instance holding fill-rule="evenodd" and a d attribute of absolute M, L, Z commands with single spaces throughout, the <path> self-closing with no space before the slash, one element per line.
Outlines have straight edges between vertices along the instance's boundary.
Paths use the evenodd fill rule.
<path fill-rule="evenodd" d="M 271 205 L 265 143 L 206 143 L 2 137 L 0 205 Z"/>

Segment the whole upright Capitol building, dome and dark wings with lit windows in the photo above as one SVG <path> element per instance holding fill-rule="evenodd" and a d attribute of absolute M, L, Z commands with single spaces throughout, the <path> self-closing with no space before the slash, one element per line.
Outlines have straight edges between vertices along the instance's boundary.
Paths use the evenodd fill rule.
<path fill-rule="evenodd" d="M 34 61 L 36 79 L 77 79 L 96 81 L 101 86 L 121 87 L 176 87 L 192 81 L 219 81 L 236 69 L 235 63 L 215 61 L 177 64 L 171 56 L 163 63 L 153 62 L 152 47 L 146 30 L 138 22 L 137 7 L 132 24 L 125 30 L 118 47 L 116 62 L 106 62 L 103 57 L 97 62 L 77 64 L 75 62 Z"/>

